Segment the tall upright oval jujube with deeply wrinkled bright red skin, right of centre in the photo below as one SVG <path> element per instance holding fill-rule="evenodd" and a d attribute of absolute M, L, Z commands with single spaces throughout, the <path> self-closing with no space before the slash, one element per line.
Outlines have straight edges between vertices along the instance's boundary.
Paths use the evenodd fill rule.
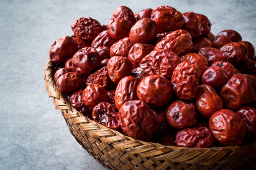
<path fill-rule="evenodd" d="M 199 85 L 200 69 L 191 62 L 181 62 L 173 71 L 172 86 L 175 95 L 182 100 L 192 100 Z"/>

